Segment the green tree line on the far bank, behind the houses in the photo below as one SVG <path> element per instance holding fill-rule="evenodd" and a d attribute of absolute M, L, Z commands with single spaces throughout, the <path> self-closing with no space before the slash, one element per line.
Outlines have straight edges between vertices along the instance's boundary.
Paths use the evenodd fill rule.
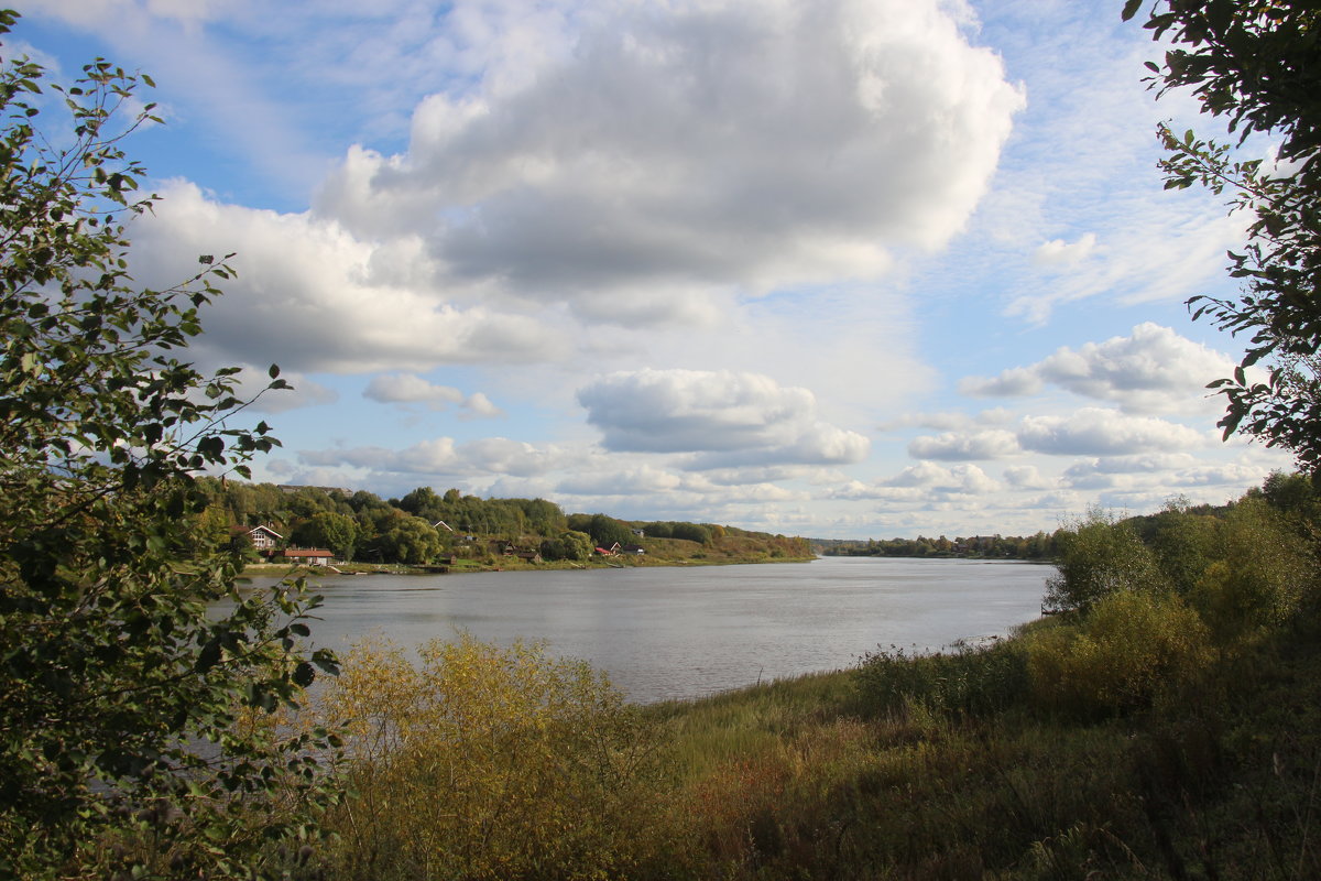
<path fill-rule="evenodd" d="M 199 478 L 206 509 L 197 518 L 205 538 L 251 551 L 247 531 L 266 526 L 276 551 L 325 548 L 341 560 L 421 565 L 440 559 L 483 559 L 506 551 L 548 560 L 584 560 L 596 548 L 631 547 L 682 556 L 672 542 L 712 547 L 737 539 L 761 556 L 806 557 L 804 539 L 749 532 L 715 523 L 620 520 L 606 514 L 565 514 L 542 498 L 478 498 L 457 489 L 420 486 L 403 498 L 365 490 L 284 486 Z M 701 556 L 701 553 L 695 553 Z"/>

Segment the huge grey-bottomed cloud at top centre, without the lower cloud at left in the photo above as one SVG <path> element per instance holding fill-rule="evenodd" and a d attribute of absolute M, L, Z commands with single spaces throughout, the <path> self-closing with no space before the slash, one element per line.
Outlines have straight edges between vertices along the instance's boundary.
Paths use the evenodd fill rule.
<path fill-rule="evenodd" d="M 1022 106 L 946 9 L 583 11 L 535 75 L 423 102 L 407 155 L 350 152 L 317 209 L 365 239 L 421 232 L 450 279 L 594 320 L 872 277 L 890 248 L 963 227 Z"/>

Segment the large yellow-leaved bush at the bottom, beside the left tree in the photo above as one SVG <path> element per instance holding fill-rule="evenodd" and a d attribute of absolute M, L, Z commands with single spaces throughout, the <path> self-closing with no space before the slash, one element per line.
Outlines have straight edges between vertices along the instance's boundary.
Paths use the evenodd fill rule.
<path fill-rule="evenodd" d="M 342 877 L 645 877 L 671 851 L 651 738 L 583 662 L 462 635 L 415 664 L 369 642 L 325 707 L 350 738 Z"/>

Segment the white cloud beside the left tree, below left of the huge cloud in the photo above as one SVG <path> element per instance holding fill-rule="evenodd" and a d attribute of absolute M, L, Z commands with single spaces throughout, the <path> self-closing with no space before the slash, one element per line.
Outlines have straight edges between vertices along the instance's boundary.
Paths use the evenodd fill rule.
<path fill-rule="evenodd" d="M 207 306 L 197 343 L 218 359 L 279 353 L 295 370 L 351 372 L 528 361 L 559 350 L 546 322 L 446 301 L 406 242 L 386 247 L 308 214 L 221 205 L 190 184 L 164 188 L 133 240 L 135 273 L 161 287 L 194 272 L 197 255 L 238 252 L 238 277 Z"/>

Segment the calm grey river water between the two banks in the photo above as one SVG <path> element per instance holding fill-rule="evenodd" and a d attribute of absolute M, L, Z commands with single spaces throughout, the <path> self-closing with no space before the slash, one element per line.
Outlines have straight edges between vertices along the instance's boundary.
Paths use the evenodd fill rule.
<path fill-rule="evenodd" d="M 824 557 L 803 564 L 320 579 L 317 645 L 544 639 L 630 700 L 699 697 L 855 664 L 877 646 L 941 649 L 1038 617 L 1052 567 Z M 258 584 L 269 580 L 256 580 Z"/>

